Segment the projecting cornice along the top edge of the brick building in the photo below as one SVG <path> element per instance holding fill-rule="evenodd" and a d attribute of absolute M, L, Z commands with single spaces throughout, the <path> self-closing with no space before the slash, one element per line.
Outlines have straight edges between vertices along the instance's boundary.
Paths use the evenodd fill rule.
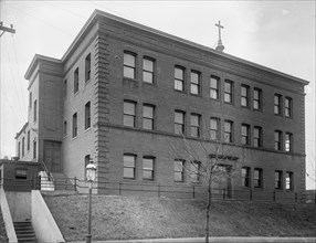
<path fill-rule="evenodd" d="M 167 38 L 167 39 L 170 39 L 172 41 L 180 42 L 180 43 L 189 45 L 191 47 L 196 47 L 196 49 L 199 49 L 199 50 L 202 50 L 202 51 L 206 51 L 206 52 L 209 52 L 209 53 L 222 56 L 224 59 L 232 60 L 234 62 L 239 62 L 239 63 L 242 63 L 242 64 L 255 67 L 255 68 L 260 68 L 260 70 L 265 71 L 265 72 L 278 75 L 278 76 L 283 76 L 285 78 L 289 78 L 292 81 L 298 82 L 298 83 L 304 84 L 304 85 L 307 85 L 309 83 L 306 80 L 303 80 L 303 78 L 299 78 L 299 77 L 296 77 L 296 76 L 293 76 L 293 75 L 289 75 L 289 74 L 286 74 L 286 73 L 283 73 L 283 72 L 280 72 L 280 71 L 276 71 L 276 70 L 273 70 L 273 68 L 270 68 L 270 67 L 266 67 L 266 66 L 263 66 L 263 65 L 260 65 L 260 64 L 256 64 L 256 63 L 253 63 L 253 62 L 250 62 L 250 61 L 246 61 L 246 60 L 243 60 L 243 59 L 240 59 L 240 57 L 227 54 L 227 53 L 218 52 L 214 49 L 208 47 L 206 45 L 201 45 L 201 44 L 198 44 L 198 43 L 194 43 L 194 42 L 191 42 L 191 41 L 178 38 L 176 35 L 168 34 L 166 32 L 162 32 L 162 31 L 159 31 L 159 30 L 156 30 L 156 29 L 152 29 L 152 28 L 149 28 L 149 27 L 146 27 L 146 25 L 133 22 L 130 20 L 120 18 L 120 17 L 117 17 L 117 15 L 114 15 L 114 14 L 110 14 L 110 13 L 107 13 L 107 12 L 104 12 L 104 11 L 101 11 L 101 10 L 97 10 L 97 9 L 93 11 L 93 13 L 88 18 L 88 20 L 85 22 L 84 27 L 81 29 L 78 34 L 75 36 L 74 41 L 71 43 L 70 47 L 64 53 L 64 55 L 62 56 L 61 60 L 56 60 L 56 59 L 52 59 L 52 57 L 49 57 L 49 56 L 43 56 L 43 55 L 38 55 L 36 54 L 34 56 L 34 59 L 33 59 L 33 61 L 32 61 L 28 72 L 27 72 L 27 74 L 25 74 L 25 78 L 30 76 L 30 73 L 31 73 L 32 68 L 34 68 L 33 65 L 40 59 L 45 59 L 46 61 L 53 61 L 53 62 L 64 62 L 69 57 L 69 55 L 74 51 L 75 46 L 80 43 L 80 41 L 84 38 L 85 33 L 88 31 L 88 28 L 93 23 L 95 23 L 99 18 L 106 18 L 106 19 L 109 19 L 109 20 L 113 20 L 113 21 L 116 21 L 116 22 L 119 22 L 119 23 L 123 23 L 123 24 L 126 24 L 126 25 L 130 25 L 130 27 L 140 29 L 143 31 L 146 31 L 146 32 L 149 32 L 149 33 L 154 33 L 156 35 L 160 35 L 162 38 Z"/>

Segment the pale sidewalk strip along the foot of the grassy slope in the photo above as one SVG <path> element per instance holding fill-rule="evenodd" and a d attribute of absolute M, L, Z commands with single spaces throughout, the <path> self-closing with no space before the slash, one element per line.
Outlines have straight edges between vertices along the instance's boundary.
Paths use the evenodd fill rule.
<path fill-rule="evenodd" d="M 203 243 L 204 237 L 182 237 L 182 239 L 145 239 L 145 240 L 114 240 L 114 241 L 92 241 L 93 243 Z M 210 243 L 315 243 L 316 237 L 210 237 Z M 76 241 L 70 243 L 85 243 Z"/>

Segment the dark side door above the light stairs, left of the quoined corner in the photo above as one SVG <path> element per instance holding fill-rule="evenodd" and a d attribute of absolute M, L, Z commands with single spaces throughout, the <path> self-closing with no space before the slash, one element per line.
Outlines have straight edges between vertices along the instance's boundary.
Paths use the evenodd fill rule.
<path fill-rule="evenodd" d="M 49 171 L 62 172 L 60 141 L 44 141 L 44 163 Z"/>

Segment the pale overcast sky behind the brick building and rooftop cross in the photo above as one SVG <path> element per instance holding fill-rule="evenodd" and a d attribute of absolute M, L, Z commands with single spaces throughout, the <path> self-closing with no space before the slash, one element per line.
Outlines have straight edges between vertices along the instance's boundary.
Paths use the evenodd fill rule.
<path fill-rule="evenodd" d="M 219 20 L 224 52 L 309 81 L 306 88 L 306 167 L 315 178 L 315 1 L 13 1 L 0 0 L 0 157 L 15 155 L 27 122 L 24 74 L 35 53 L 61 59 L 95 9 L 214 47 Z M 299 136 L 299 135 L 296 135 Z M 313 165 L 313 166 L 312 166 Z M 308 188 L 316 183 L 309 178 Z"/>

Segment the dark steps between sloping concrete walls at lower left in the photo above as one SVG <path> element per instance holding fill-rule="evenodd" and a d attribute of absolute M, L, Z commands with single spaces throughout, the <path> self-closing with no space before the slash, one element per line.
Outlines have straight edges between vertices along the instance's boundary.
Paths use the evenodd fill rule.
<path fill-rule="evenodd" d="M 38 242 L 31 221 L 13 222 L 19 243 Z"/>

